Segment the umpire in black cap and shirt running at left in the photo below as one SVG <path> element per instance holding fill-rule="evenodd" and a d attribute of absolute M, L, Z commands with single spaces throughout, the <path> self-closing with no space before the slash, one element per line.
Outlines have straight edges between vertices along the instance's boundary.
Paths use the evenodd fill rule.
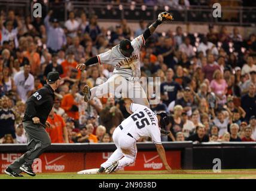
<path fill-rule="evenodd" d="M 33 160 L 38 158 L 50 146 L 51 139 L 44 127 L 50 127 L 46 121 L 53 107 L 54 91 L 59 87 L 60 76 L 58 72 L 49 72 L 47 84 L 36 91 L 26 101 L 26 112 L 23 118 L 23 127 L 28 135 L 28 151 L 10 164 L 5 173 L 12 177 L 23 177 L 20 172 L 35 176 L 32 170 Z"/>

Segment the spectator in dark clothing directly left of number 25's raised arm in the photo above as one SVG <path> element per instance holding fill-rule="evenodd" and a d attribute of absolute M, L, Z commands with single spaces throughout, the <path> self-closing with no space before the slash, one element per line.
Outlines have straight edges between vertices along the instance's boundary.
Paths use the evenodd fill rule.
<path fill-rule="evenodd" d="M 106 106 L 99 113 L 102 125 L 106 127 L 106 132 L 110 133 L 112 127 L 117 127 L 123 121 L 123 114 L 120 109 L 115 106 L 114 98 L 108 98 Z"/>

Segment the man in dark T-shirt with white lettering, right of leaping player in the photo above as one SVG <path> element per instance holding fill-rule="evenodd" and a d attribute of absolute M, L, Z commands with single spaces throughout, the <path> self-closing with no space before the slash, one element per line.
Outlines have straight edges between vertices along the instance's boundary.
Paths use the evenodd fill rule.
<path fill-rule="evenodd" d="M 173 81 L 173 70 L 169 68 L 166 72 L 166 81 L 160 85 L 161 100 L 169 106 L 170 102 L 176 100 L 178 91 L 181 90 L 181 85 Z"/>

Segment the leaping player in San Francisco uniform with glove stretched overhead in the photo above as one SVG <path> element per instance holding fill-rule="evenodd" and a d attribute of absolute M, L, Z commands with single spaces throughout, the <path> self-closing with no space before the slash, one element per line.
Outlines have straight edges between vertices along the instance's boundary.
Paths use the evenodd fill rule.
<path fill-rule="evenodd" d="M 142 45 L 145 45 L 145 40 L 154 33 L 159 24 L 163 23 L 163 21 L 170 21 L 172 19 L 173 17 L 170 13 L 160 13 L 158 19 L 154 21 L 142 35 L 133 39 L 132 42 L 128 39 L 123 39 L 120 44 L 116 45 L 111 50 L 90 58 L 86 63 L 78 64 L 77 69 L 80 70 L 84 70 L 86 69 L 86 66 L 96 63 L 110 64 L 114 66 L 113 75 L 108 81 L 93 87 L 92 89 L 90 89 L 88 85 L 84 86 L 84 101 L 87 102 L 93 97 L 100 98 L 108 96 L 109 93 L 116 95 L 116 90 L 120 87 L 121 83 L 120 93 L 123 98 L 131 98 L 133 103 L 150 107 L 147 95 L 138 80 L 141 76 L 139 51 Z M 133 96 L 130 96 L 130 93 L 132 93 Z"/>

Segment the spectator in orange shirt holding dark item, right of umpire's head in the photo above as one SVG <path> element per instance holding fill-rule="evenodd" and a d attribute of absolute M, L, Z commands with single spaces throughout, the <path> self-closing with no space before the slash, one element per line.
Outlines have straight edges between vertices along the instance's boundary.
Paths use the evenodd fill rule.
<path fill-rule="evenodd" d="M 78 94 L 78 85 L 73 84 L 71 87 L 71 93 L 66 94 L 62 99 L 61 107 L 65 110 L 66 114 L 73 118 L 75 121 L 79 119 L 78 103 L 76 101 Z M 77 127 L 78 124 L 75 126 Z"/>

